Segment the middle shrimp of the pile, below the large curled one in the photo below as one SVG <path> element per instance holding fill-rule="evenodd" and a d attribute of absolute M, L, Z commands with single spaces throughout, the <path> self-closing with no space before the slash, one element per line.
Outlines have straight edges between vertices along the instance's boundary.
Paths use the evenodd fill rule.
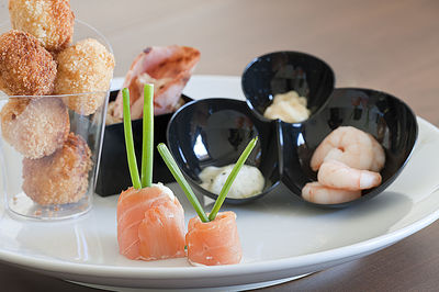
<path fill-rule="evenodd" d="M 379 186 L 381 175 L 374 171 L 354 169 L 337 160 L 328 160 L 322 164 L 317 180 L 329 188 L 358 191 Z"/>

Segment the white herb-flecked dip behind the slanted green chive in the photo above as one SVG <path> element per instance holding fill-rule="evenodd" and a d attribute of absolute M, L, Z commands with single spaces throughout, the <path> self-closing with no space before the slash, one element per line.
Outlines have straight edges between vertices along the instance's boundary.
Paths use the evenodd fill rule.
<path fill-rule="evenodd" d="M 235 165 L 225 167 L 210 166 L 200 172 L 201 187 L 212 193 L 219 194 L 221 189 Z M 262 192 L 266 180 L 260 170 L 244 165 L 228 191 L 227 198 L 245 199 Z"/>

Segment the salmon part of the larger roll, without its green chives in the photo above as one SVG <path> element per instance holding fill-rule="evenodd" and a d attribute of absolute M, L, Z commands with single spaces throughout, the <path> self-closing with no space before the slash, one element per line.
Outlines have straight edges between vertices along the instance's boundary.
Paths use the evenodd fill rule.
<path fill-rule="evenodd" d="M 184 211 L 162 184 L 130 188 L 117 201 L 120 254 L 128 259 L 184 257 Z"/>

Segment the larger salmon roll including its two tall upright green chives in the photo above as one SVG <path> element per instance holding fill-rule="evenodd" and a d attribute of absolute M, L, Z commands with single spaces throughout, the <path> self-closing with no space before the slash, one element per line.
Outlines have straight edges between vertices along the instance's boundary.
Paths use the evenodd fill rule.
<path fill-rule="evenodd" d="M 154 87 L 144 90 L 142 177 L 134 154 L 130 91 L 122 90 L 124 133 L 133 187 L 117 200 L 117 242 L 128 259 L 157 260 L 184 257 L 184 211 L 172 191 L 153 183 Z"/>

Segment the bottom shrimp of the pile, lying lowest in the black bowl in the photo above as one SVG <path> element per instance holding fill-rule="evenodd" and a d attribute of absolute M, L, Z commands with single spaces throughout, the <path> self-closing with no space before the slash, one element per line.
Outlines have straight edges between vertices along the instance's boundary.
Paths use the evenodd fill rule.
<path fill-rule="evenodd" d="M 302 196 L 304 200 L 316 204 L 339 204 L 359 199 L 361 191 L 333 189 L 314 181 L 303 187 Z"/>

